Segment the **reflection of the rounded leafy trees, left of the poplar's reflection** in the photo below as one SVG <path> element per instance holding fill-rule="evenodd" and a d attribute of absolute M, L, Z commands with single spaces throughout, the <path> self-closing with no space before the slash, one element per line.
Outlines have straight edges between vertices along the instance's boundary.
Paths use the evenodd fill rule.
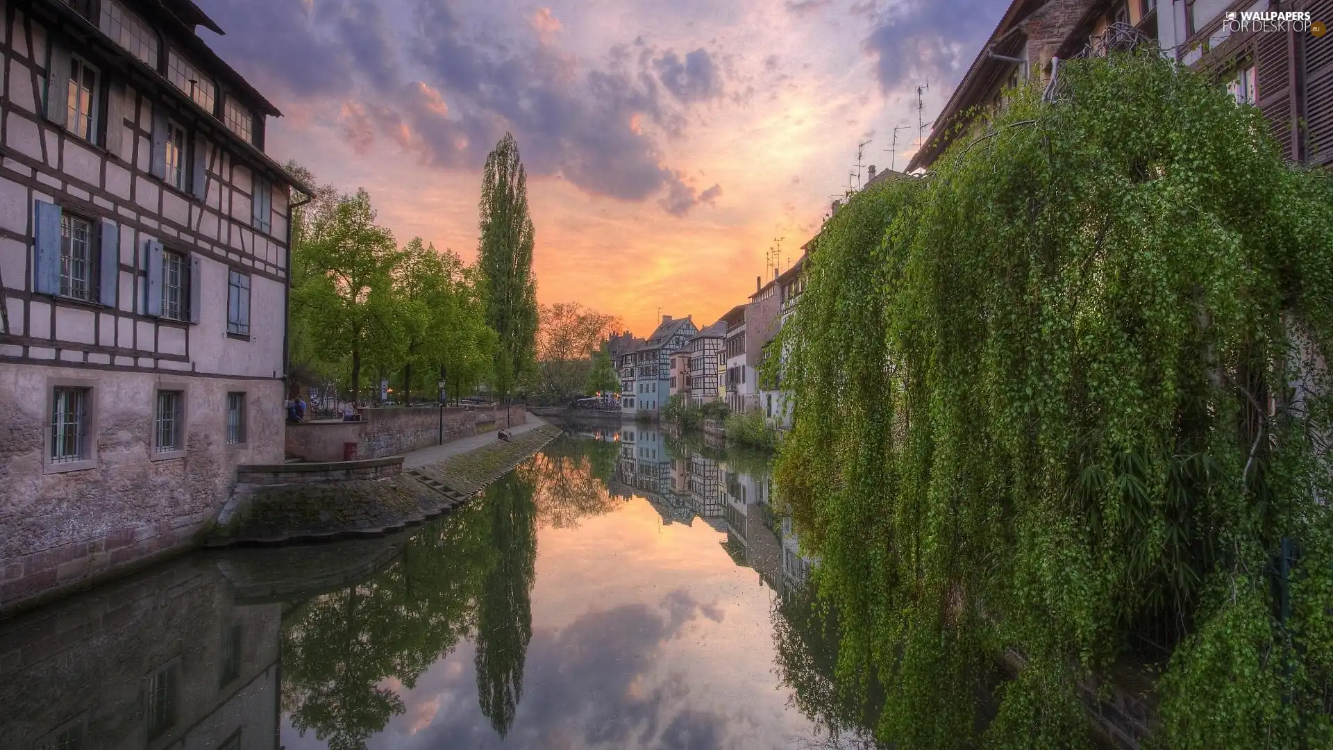
<path fill-rule="evenodd" d="M 284 615 L 283 707 L 303 735 L 360 750 L 404 711 L 411 689 L 473 625 L 493 555 L 484 506 L 425 527 L 387 570 Z"/>

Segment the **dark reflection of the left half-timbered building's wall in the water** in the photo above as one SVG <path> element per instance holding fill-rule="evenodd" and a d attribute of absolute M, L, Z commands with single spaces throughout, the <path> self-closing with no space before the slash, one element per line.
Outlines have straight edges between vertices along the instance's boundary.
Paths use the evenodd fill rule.
<path fill-rule="evenodd" d="M 11 621 L 0 747 L 215 749 L 237 731 L 243 749 L 273 747 L 281 610 L 239 605 L 192 558 Z M 152 726 L 159 697 L 169 709 Z"/>

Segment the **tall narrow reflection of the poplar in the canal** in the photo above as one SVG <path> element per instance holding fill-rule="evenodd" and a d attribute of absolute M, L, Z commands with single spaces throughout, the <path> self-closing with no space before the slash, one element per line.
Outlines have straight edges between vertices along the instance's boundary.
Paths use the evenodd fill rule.
<path fill-rule="evenodd" d="M 537 562 L 532 464 L 528 462 L 523 471 L 509 472 L 492 484 L 483 506 L 491 563 L 477 602 L 477 701 L 500 737 L 508 734 L 523 698 L 523 663 L 532 641 Z"/>

